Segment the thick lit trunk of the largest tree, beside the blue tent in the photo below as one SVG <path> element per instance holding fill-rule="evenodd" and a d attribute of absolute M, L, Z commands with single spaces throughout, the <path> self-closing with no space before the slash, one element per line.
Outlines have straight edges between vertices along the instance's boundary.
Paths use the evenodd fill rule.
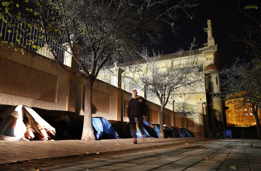
<path fill-rule="evenodd" d="M 81 135 L 81 140 L 95 141 L 93 133 L 93 121 L 92 121 L 92 91 L 93 81 L 86 80 L 85 86 L 85 99 L 84 99 L 84 125 Z"/>

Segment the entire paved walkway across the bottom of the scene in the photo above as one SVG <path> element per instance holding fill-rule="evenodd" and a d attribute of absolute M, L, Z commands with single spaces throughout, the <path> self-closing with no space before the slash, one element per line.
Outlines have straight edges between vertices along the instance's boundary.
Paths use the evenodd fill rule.
<path fill-rule="evenodd" d="M 260 170 L 258 140 L 130 141 L 0 141 L 0 170 Z"/>

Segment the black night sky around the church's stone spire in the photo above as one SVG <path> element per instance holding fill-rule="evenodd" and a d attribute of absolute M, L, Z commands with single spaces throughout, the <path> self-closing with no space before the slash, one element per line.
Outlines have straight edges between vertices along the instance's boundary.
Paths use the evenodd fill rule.
<path fill-rule="evenodd" d="M 229 40 L 229 34 L 241 35 L 237 25 L 240 25 L 242 21 L 249 22 L 249 18 L 238 12 L 238 3 L 241 10 L 244 10 L 245 5 L 251 4 L 257 4 L 260 7 L 260 1 L 202 0 L 202 3 L 195 8 L 195 18 L 188 19 L 184 14 L 179 16 L 176 22 L 180 25 L 178 35 L 168 29 L 162 43 L 153 48 L 163 54 L 177 52 L 179 48 L 189 50 L 188 46 L 190 46 L 194 36 L 197 40 L 196 43 L 198 43 L 195 48 L 201 48 L 203 43 L 207 43 L 207 33 L 203 31 L 203 24 L 206 26 L 207 20 L 211 19 L 215 43 L 218 43 L 221 68 L 226 64 L 229 66 L 235 60 L 235 57 L 250 59 L 249 55 L 246 54 L 244 44 Z"/>

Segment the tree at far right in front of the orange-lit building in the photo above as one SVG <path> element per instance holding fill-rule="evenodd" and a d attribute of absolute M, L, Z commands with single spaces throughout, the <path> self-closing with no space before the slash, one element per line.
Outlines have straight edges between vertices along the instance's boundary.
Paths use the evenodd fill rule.
<path fill-rule="evenodd" d="M 225 67 L 221 74 L 224 79 L 220 81 L 224 86 L 228 100 L 237 100 L 237 104 L 251 106 L 255 116 L 258 139 L 261 139 L 261 126 L 258 118 L 258 109 L 261 105 L 261 66 L 258 60 L 244 62 L 237 59 L 230 67 Z"/>

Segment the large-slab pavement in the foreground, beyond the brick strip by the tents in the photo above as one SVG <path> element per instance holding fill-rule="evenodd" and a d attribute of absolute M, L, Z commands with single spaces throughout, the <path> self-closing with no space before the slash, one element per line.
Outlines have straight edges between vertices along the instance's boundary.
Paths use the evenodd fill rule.
<path fill-rule="evenodd" d="M 122 141 L 110 153 L 48 158 L 0 165 L 0 170 L 260 170 L 261 141 L 251 139 L 146 139 L 135 146 Z M 184 145 L 188 142 L 189 145 Z M 195 141 L 199 140 L 199 141 Z M 164 141 L 164 142 L 163 142 Z M 113 142 L 113 141 L 112 141 Z M 117 142 L 117 141 L 116 141 Z M 65 144 L 68 142 L 64 142 Z M 90 143 L 90 142 L 89 142 Z M 95 142 L 99 143 L 99 141 Z M 94 144 L 95 144 L 94 143 Z M 117 142 L 118 143 L 118 142 Z M 147 144 L 147 145 L 146 145 Z M 160 144 L 160 145 L 158 145 Z M 12 145 L 12 144 L 10 144 Z M 84 145 L 85 142 L 84 142 Z M 98 144 L 100 145 L 100 144 Z M 115 143 L 114 143 L 115 145 Z M 79 146 L 81 146 L 79 144 Z M 83 145 L 82 145 L 83 146 Z M 110 145 L 108 145 L 110 146 Z M 126 146 L 131 150 L 126 150 Z M 0 145 L 1 147 L 1 145 Z M 110 147 L 113 147 L 111 145 Z M 123 147 L 123 148 L 121 148 Z M 149 148 L 150 147 L 150 148 Z M 106 147 L 104 147 L 106 149 Z M 124 150 L 119 150 L 124 149 Z M 86 150 L 86 149 L 83 149 Z M 91 148 L 88 149 L 91 151 Z M 102 150 L 102 149 L 101 149 Z M 114 150 L 114 151 L 113 151 Z M 1 153 L 1 152 L 0 152 Z M 232 167 L 232 168 L 231 168 Z"/>

